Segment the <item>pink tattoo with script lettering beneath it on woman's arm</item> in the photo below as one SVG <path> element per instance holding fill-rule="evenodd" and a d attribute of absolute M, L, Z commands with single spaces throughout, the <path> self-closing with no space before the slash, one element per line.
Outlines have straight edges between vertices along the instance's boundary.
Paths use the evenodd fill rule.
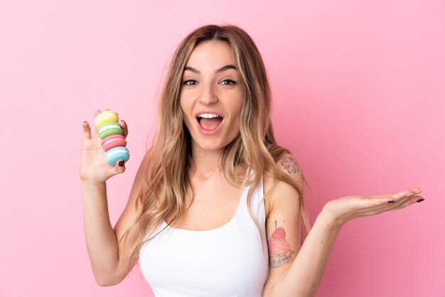
<path fill-rule="evenodd" d="M 277 228 L 277 221 L 275 221 L 275 231 L 267 240 L 269 246 L 269 266 L 279 267 L 288 263 L 295 254 L 291 250 L 289 242 L 286 240 L 286 232 L 282 227 Z"/>

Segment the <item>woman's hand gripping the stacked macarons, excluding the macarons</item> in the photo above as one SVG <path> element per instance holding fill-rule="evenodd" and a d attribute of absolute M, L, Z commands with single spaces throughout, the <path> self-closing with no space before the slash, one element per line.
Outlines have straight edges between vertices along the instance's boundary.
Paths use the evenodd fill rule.
<path fill-rule="evenodd" d="M 96 111 L 100 114 L 100 110 Z M 125 121 L 119 122 L 124 131 L 124 137 L 127 137 L 128 127 Z M 80 151 L 80 178 L 82 180 L 90 180 L 93 182 L 102 183 L 108 178 L 118 173 L 125 171 L 125 166 L 119 166 L 119 162 L 115 166 L 109 166 L 105 157 L 104 150 L 102 148 L 102 141 L 95 129 L 95 136 L 91 136 L 90 124 L 87 121 L 82 123 L 83 137 L 82 148 Z"/>

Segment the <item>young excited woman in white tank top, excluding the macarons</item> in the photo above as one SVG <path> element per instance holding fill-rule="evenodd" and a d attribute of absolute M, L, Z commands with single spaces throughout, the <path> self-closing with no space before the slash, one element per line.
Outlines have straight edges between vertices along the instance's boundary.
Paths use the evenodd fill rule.
<path fill-rule="evenodd" d="M 310 229 L 304 175 L 275 141 L 270 109 L 264 64 L 245 31 L 190 33 L 114 228 L 105 182 L 124 162 L 108 166 L 83 123 L 85 237 L 98 284 L 119 284 L 138 264 L 156 296 L 314 296 L 345 222 L 422 200 L 419 188 L 331 200 Z"/>

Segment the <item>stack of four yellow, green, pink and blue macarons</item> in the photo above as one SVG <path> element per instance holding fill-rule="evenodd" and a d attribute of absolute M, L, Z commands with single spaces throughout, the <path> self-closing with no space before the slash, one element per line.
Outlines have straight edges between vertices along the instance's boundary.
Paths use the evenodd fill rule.
<path fill-rule="evenodd" d="M 107 163 L 115 166 L 119 160 L 127 162 L 130 154 L 127 146 L 127 141 L 122 135 L 124 131 L 119 125 L 119 117 L 117 112 L 112 110 L 105 110 L 96 116 L 96 127 L 99 138 L 102 139 L 102 148 L 104 148 L 105 158 Z"/>

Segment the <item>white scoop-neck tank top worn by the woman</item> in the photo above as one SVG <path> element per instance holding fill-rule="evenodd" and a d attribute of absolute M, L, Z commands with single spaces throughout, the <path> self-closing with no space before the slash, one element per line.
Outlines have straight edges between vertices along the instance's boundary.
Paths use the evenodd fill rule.
<path fill-rule="evenodd" d="M 156 297 L 262 296 L 269 272 L 263 180 L 251 200 L 262 239 L 247 209 L 249 188 L 221 227 L 194 231 L 166 227 L 166 222 L 157 227 L 154 234 L 160 233 L 139 254 L 141 272 Z"/>

